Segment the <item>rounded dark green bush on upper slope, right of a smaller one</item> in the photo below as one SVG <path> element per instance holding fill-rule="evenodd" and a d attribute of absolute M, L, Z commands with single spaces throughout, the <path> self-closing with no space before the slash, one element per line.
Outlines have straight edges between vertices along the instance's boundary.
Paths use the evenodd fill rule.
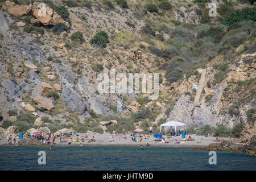
<path fill-rule="evenodd" d="M 106 47 L 109 43 L 109 35 L 105 31 L 97 32 L 92 39 L 90 39 L 90 44 L 94 47 Z"/>

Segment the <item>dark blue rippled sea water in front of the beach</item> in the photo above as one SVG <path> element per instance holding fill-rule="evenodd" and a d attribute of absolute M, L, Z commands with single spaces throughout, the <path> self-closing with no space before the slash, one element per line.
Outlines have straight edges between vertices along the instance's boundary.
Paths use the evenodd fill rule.
<path fill-rule="evenodd" d="M 39 165 L 39 151 L 46 165 Z M 0 170 L 256 170 L 256 158 L 216 151 L 210 165 L 209 151 L 191 147 L 138 146 L 0 146 Z"/>

